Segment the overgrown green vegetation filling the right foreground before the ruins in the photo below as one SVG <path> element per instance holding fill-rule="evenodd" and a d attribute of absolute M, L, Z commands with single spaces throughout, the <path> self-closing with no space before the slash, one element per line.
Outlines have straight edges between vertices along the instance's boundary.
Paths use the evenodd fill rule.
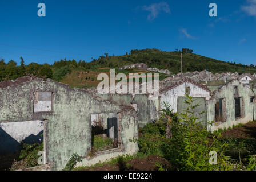
<path fill-rule="evenodd" d="M 163 156 L 170 165 L 166 167 L 155 164 L 161 171 L 256 170 L 256 140 L 225 138 L 222 136 L 223 130 L 209 133 L 199 122 L 203 112 L 195 114 L 194 110 L 198 104 L 194 103 L 191 97 L 186 97 L 186 104 L 189 104 L 186 111 L 174 115 L 168 109 L 169 105 L 164 104 L 166 109 L 162 110 L 161 119 L 140 129 L 138 139 L 130 140 L 130 142 L 138 142 L 138 154 L 127 158 L 121 156 L 121 158 L 131 160 L 139 156 L 143 158 L 150 155 Z M 217 153 L 217 164 L 209 162 L 211 151 Z M 95 164 L 93 167 L 116 164 L 119 160 L 114 158 L 105 163 Z"/>

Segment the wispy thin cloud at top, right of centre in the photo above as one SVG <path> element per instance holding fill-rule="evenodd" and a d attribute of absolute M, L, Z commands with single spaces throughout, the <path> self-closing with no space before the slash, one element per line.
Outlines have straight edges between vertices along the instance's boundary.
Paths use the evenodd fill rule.
<path fill-rule="evenodd" d="M 170 13 L 170 7 L 166 2 L 159 2 L 159 3 L 154 3 L 151 5 L 145 5 L 142 6 L 142 10 L 149 11 L 149 15 L 147 15 L 148 20 L 154 20 L 157 18 L 158 14 L 161 13 L 161 11 L 165 13 Z"/>

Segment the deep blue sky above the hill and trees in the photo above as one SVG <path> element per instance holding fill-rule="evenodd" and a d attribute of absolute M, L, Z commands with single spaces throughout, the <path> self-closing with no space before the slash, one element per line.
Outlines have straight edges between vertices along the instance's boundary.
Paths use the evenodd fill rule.
<path fill-rule="evenodd" d="M 39 17 L 38 3 L 46 17 Z M 209 16 L 216 3 L 218 16 Z M 157 48 L 242 64 L 256 62 L 256 0 L 0 0 L 0 59 L 26 64 L 91 61 L 104 52 Z"/>

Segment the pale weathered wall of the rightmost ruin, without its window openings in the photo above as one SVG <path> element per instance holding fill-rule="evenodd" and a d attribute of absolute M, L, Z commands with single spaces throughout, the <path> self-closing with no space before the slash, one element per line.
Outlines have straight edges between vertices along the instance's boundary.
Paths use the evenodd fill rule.
<path fill-rule="evenodd" d="M 234 95 L 234 87 L 238 87 L 238 96 Z M 228 129 L 239 123 L 247 123 L 255 119 L 255 102 L 251 103 L 251 97 L 255 96 L 253 90 L 243 86 L 238 80 L 232 81 L 229 84 L 220 88 L 215 92 L 215 97 L 207 101 L 207 121 L 215 121 L 215 104 L 220 99 L 225 99 L 223 102 L 223 121 L 219 121 L 213 126 L 209 125 L 209 131 L 218 129 Z M 235 97 L 241 98 L 241 117 L 235 118 Z"/>

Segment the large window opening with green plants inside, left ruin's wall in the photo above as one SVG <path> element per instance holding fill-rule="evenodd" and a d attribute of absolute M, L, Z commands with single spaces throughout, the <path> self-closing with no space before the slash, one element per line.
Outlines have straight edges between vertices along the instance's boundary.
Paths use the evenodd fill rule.
<path fill-rule="evenodd" d="M 91 148 L 95 152 L 118 147 L 117 113 L 91 114 Z"/>

